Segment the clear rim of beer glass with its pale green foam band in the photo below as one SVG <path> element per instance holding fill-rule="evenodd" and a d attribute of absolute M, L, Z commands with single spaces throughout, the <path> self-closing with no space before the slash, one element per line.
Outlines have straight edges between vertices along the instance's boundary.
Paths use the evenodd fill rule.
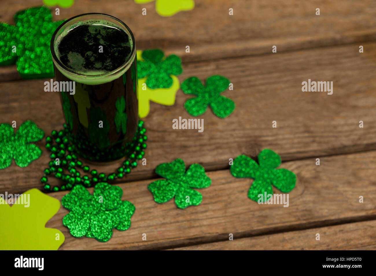
<path fill-rule="evenodd" d="M 65 66 L 61 62 L 61 60 L 56 56 L 55 40 L 56 40 L 56 36 L 57 36 L 58 32 L 60 30 L 64 31 L 65 26 L 69 22 L 71 22 L 72 20 L 79 18 L 79 17 L 88 16 L 88 15 L 100 15 L 100 16 L 112 18 L 113 20 L 117 21 L 117 23 L 120 24 L 119 27 L 124 27 L 126 32 L 130 35 L 130 38 L 132 39 L 132 50 L 130 52 L 128 59 L 121 66 L 119 66 L 118 68 L 116 68 L 116 69 L 114 69 L 110 72 L 106 72 L 106 73 L 103 73 L 103 74 L 97 74 L 97 75 L 80 74 L 80 73 L 77 73 L 77 72 L 73 71 L 72 69 L 68 68 L 67 66 Z M 135 37 L 133 36 L 132 31 L 129 29 L 127 24 L 125 24 L 123 21 L 121 21 L 120 19 L 118 19 L 118 18 L 116 18 L 112 15 L 102 14 L 102 13 L 98 13 L 98 12 L 89 12 L 89 13 L 86 13 L 86 14 L 75 15 L 74 17 L 71 17 L 71 18 L 65 20 L 63 23 L 61 23 L 60 26 L 56 28 L 55 32 L 53 33 L 53 35 L 51 37 L 50 51 L 51 51 L 51 54 L 52 54 L 52 61 L 55 64 L 56 68 L 63 75 L 65 75 L 67 78 L 70 78 L 72 80 L 77 80 L 81 83 L 86 83 L 86 84 L 101 84 L 101 83 L 107 83 L 109 81 L 112 81 L 112 79 L 109 79 L 107 81 L 106 80 L 107 77 L 117 75 L 121 71 L 124 70 L 124 72 L 125 72 L 127 69 L 129 69 L 127 67 L 128 66 L 130 67 L 130 64 L 133 62 L 133 60 L 135 59 L 135 56 L 136 56 L 136 54 L 135 54 L 136 53 L 136 44 L 135 44 Z M 66 73 L 66 74 L 64 74 L 64 73 Z M 94 81 L 94 80 L 97 80 L 97 81 Z M 95 83 L 93 83 L 93 82 L 95 82 Z"/>

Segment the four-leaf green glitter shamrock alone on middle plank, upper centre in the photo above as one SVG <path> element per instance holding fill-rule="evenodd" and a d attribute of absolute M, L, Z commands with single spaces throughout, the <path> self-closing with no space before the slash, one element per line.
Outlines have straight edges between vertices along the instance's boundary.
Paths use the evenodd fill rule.
<path fill-rule="evenodd" d="M 229 87 L 230 81 L 222 76 L 213 75 L 206 79 L 203 86 L 197 77 L 187 78 L 180 85 L 185 94 L 197 97 L 187 100 L 184 107 L 192 116 L 199 116 L 206 112 L 208 106 L 219 118 L 226 118 L 235 109 L 235 103 L 229 98 L 221 96 L 221 92 Z"/>

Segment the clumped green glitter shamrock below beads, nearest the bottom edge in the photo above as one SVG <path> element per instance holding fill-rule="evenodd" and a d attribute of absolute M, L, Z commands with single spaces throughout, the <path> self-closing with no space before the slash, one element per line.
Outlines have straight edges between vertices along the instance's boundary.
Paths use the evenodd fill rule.
<path fill-rule="evenodd" d="M 108 241 L 112 229 L 120 231 L 130 227 L 130 217 L 135 206 L 129 201 L 121 201 L 123 190 L 106 182 L 99 182 L 91 195 L 82 185 L 73 187 L 61 199 L 61 204 L 70 210 L 63 218 L 63 225 L 69 228 L 73 237 L 86 236 L 98 241 Z"/>

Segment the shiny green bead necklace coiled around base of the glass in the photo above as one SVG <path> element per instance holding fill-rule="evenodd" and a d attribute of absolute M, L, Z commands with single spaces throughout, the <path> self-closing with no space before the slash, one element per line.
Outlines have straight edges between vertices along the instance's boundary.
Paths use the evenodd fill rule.
<path fill-rule="evenodd" d="M 66 124 L 64 124 L 64 129 L 59 132 L 53 130 L 51 136 L 47 136 L 45 139 L 46 149 L 52 152 L 50 155 L 52 161 L 49 162 L 49 168 L 44 170 L 44 175 L 41 178 L 41 182 L 44 184 L 44 189 L 49 192 L 58 192 L 70 190 L 77 184 L 91 187 L 92 184 L 96 184 L 97 182 L 107 182 L 113 181 L 117 178 L 123 178 L 124 174 L 130 173 L 132 167 L 137 166 L 136 160 L 142 159 L 145 154 L 144 149 L 146 149 L 145 141 L 147 140 L 147 136 L 144 135 L 146 129 L 143 125 L 143 121 L 138 122 L 136 135 L 132 140 L 132 144 L 135 146 L 134 151 L 128 155 L 127 160 L 125 160 L 123 165 L 117 169 L 116 173 L 111 173 L 109 175 L 98 173 L 97 170 L 90 170 L 89 166 L 83 165 L 82 162 L 78 160 L 78 157 L 75 154 L 75 147 L 68 139 L 69 130 Z M 57 157 L 61 160 L 59 165 L 55 162 L 55 158 Z M 90 172 L 90 175 L 81 176 L 77 168 L 82 169 L 84 172 Z M 67 169 L 69 174 L 64 174 L 64 169 Z M 53 173 L 56 178 L 65 181 L 65 184 L 61 187 L 55 186 L 52 188 L 50 184 L 47 183 L 47 176 L 51 173 Z"/>

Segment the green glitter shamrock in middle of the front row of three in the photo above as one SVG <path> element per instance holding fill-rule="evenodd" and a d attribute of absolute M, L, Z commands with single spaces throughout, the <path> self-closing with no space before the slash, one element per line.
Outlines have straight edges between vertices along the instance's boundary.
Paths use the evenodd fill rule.
<path fill-rule="evenodd" d="M 185 164 L 181 159 L 162 163 L 156 167 L 155 172 L 166 178 L 148 186 L 155 202 L 164 203 L 175 197 L 175 204 L 181 209 L 190 205 L 197 206 L 202 202 L 202 195 L 192 188 L 207 188 L 211 184 L 203 166 L 192 164 L 185 172 Z"/>

